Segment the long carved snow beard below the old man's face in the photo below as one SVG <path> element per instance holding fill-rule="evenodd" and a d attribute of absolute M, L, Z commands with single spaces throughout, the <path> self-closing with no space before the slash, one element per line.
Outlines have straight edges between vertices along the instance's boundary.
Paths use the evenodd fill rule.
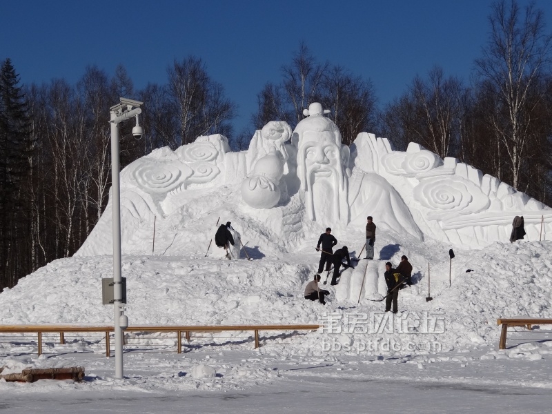
<path fill-rule="evenodd" d="M 306 175 L 306 204 L 311 220 L 339 221 L 339 182 L 335 168 L 311 168 Z"/>

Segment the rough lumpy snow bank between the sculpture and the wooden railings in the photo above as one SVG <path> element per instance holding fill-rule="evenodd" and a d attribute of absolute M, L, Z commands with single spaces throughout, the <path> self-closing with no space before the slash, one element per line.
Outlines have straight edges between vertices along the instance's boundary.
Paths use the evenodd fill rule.
<path fill-rule="evenodd" d="M 371 268 L 372 279 L 377 277 L 377 281 L 366 277 L 363 290 L 368 291 L 371 286 L 380 289 L 384 283 L 384 262 L 391 259 L 397 264 L 400 255 L 411 255 L 417 284 L 401 290 L 402 313 L 394 317 L 383 313 L 384 302 L 372 302 L 366 293 L 362 293 L 357 306 L 361 286 L 358 284 L 353 289 L 346 284 L 353 270 L 346 270 L 342 284 L 335 288 L 329 284 L 324 286 L 331 290 L 326 306 L 304 299 L 304 287 L 317 268 L 318 255 L 310 247 L 315 244 L 314 240 L 309 240 L 296 254 L 251 262 L 203 255 L 126 256 L 123 273 L 128 278 L 127 315 L 131 325 L 327 326 L 330 319 L 337 318 L 339 332 L 320 329 L 291 341 L 271 339 L 265 345 L 267 352 L 318 356 L 329 351 L 365 355 L 427 354 L 428 351 L 489 346 L 497 344 L 498 317 L 552 317 L 552 242 L 495 243 L 485 250 L 459 250 L 453 259 L 449 287 L 446 246 L 434 244 L 429 253 L 424 250 L 427 246 L 417 244 L 408 249 L 393 236 L 386 237 L 379 239 L 377 253 L 380 257 L 386 252 L 394 252 L 393 255 L 370 262 L 369 266 L 368 261 L 361 260 L 359 268 Z M 426 258 L 421 254 L 424 251 Z M 426 302 L 428 262 L 431 263 L 431 302 Z M 473 272 L 466 273 L 467 269 Z M 52 262 L 1 294 L 2 324 L 111 324 L 112 306 L 101 304 L 101 278 L 110 277 L 111 273 L 109 256 L 72 257 Z M 325 276 L 324 273 L 323 280 Z M 339 295 L 344 286 L 348 286 L 351 295 Z M 370 319 L 372 325 L 368 326 L 363 317 Z M 420 319 L 424 318 L 433 324 L 430 331 L 420 325 Z M 379 329 L 375 329 L 376 323 Z M 228 335 L 250 337 L 250 333 L 224 333 L 223 336 Z M 217 334 L 213 338 L 216 341 Z M 371 339 L 379 340 L 380 345 L 367 347 Z M 227 341 L 220 339 L 219 342 Z M 205 344 L 205 340 L 198 343 Z M 382 346 L 384 343 L 390 343 L 391 348 Z M 393 348 L 393 344 L 401 347 Z M 413 349 L 406 348 L 412 344 L 415 344 Z M 438 348 L 431 348 L 437 345 Z"/>

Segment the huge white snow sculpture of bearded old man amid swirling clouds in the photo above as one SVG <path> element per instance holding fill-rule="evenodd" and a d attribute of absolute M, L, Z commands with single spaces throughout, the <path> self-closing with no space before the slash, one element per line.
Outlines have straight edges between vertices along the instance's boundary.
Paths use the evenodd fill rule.
<path fill-rule="evenodd" d="M 226 137 L 210 135 L 134 161 L 121 172 L 124 253 L 151 251 L 143 241 L 153 233 L 155 216 L 156 252 L 178 254 L 197 237 L 181 234 L 190 219 L 204 228 L 203 215 L 226 214 L 228 201 L 234 217 L 251 217 L 278 235 L 273 248 L 293 248 L 326 226 L 362 229 L 367 215 L 380 231 L 470 247 L 508 240 L 515 216 L 524 217 L 525 240 L 538 240 L 544 216 L 542 238 L 551 238 L 552 209 L 535 199 L 415 143 L 395 151 L 387 139 L 362 132 L 349 148 L 326 113 L 311 103 L 293 132 L 284 121 L 270 121 L 246 151 L 231 152 Z M 110 234 L 108 204 L 77 255 L 111 254 Z M 207 245 L 210 235 L 201 237 Z"/>

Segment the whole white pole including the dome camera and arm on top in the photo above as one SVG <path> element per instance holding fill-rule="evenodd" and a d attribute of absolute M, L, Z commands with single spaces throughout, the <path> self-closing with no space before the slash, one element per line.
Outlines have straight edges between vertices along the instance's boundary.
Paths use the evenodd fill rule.
<path fill-rule="evenodd" d="M 119 186 L 119 123 L 136 117 L 132 135 L 144 133 L 138 125 L 138 115 L 143 102 L 121 98 L 121 103 L 110 108 L 111 124 L 111 206 L 113 209 L 113 308 L 115 319 L 115 378 L 123 378 L 123 331 L 128 327 L 124 315 L 121 279 L 121 191 Z"/>

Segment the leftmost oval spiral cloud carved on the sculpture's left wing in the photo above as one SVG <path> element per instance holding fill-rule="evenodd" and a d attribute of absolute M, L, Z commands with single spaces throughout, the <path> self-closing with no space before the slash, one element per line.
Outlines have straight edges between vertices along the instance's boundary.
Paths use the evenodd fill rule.
<path fill-rule="evenodd" d="M 146 193 L 168 193 L 184 184 L 191 173 L 190 168 L 178 161 L 144 160 L 132 172 L 132 178 Z"/>

